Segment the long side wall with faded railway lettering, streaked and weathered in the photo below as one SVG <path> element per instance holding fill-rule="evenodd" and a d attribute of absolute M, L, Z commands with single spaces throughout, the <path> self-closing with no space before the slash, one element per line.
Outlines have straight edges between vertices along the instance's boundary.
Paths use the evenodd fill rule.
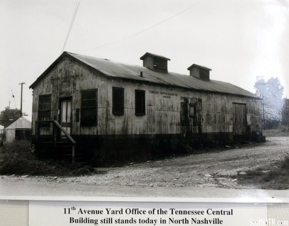
<path fill-rule="evenodd" d="M 124 115 L 112 114 L 112 87 L 124 88 Z M 135 90 L 146 91 L 146 115 L 135 115 Z M 180 134 L 181 99 L 201 100 L 202 116 L 198 122 L 203 133 L 233 133 L 233 103 L 246 105 L 247 125 L 251 131 L 259 131 L 260 114 L 258 100 L 230 94 L 187 91 L 122 80 L 108 80 L 109 115 L 106 134 Z M 196 102 L 197 103 L 197 102 Z M 192 124 L 192 123 L 191 123 Z M 198 132 L 197 125 L 193 129 Z"/>

